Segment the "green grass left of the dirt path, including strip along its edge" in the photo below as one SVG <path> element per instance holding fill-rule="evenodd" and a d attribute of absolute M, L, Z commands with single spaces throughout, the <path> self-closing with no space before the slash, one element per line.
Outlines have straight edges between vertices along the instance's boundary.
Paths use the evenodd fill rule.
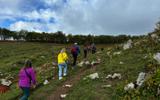
<path fill-rule="evenodd" d="M 40 69 L 41 72 L 39 72 L 39 70 L 37 72 L 37 81 L 38 83 L 42 83 L 45 79 L 53 77 L 53 75 L 57 75 L 57 66 L 53 69 L 51 62 L 57 62 L 57 55 L 62 47 L 70 46 L 71 45 L 57 45 L 52 43 L 0 42 L 0 72 L 6 74 L 4 76 L 0 76 L 0 78 L 5 78 L 11 74 L 11 76 L 14 77 L 13 81 L 15 81 L 11 85 L 10 91 L 5 94 L 0 94 L 0 98 L 3 100 L 10 100 L 22 93 L 21 89 L 17 88 L 17 77 L 19 70 L 24 65 L 25 59 L 31 59 L 33 67 L 36 70 L 40 69 L 45 63 L 50 64 L 49 67 Z M 54 52 L 54 56 L 52 55 L 52 52 Z M 70 61 L 72 61 L 71 55 L 69 56 Z M 83 51 L 81 52 L 81 56 L 78 60 L 80 61 L 82 58 Z M 76 72 L 79 69 L 72 71 L 70 68 L 71 66 L 69 66 L 69 77 L 72 77 L 73 75 L 76 75 Z M 57 79 L 51 80 L 49 85 L 36 89 L 30 99 L 37 100 L 41 98 L 43 100 L 43 98 L 53 92 L 59 85 L 61 85 L 61 82 L 57 81 Z M 39 94 L 41 94 L 41 96 L 39 96 Z"/>

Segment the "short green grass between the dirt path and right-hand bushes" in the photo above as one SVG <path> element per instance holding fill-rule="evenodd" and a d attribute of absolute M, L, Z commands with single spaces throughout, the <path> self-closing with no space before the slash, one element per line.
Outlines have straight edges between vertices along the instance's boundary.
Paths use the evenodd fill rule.
<path fill-rule="evenodd" d="M 107 55 L 108 51 L 104 51 L 102 54 L 99 54 L 98 56 L 102 58 L 103 62 L 97 66 L 96 72 L 99 73 L 101 78 L 98 80 L 81 79 L 81 81 L 70 90 L 66 100 L 124 100 L 124 86 L 130 82 L 136 81 L 138 74 L 145 71 L 144 68 L 146 63 L 149 62 L 153 56 L 147 57 L 146 59 L 143 57 L 146 54 L 153 55 L 160 50 L 160 45 L 155 45 L 153 48 L 150 46 L 149 41 L 143 45 L 147 48 L 137 46 L 125 51 L 121 49 L 112 49 L 112 53 L 122 51 L 120 55 L 112 57 Z M 124 62 L 124 64 L 120 64 L 120 61 Z M 121 73 L 122 79 L 105 79 L 108 74 L 113 73 Z M 107 84 L 111 84 L 112 87 L 102 88 L 102 85 Z M 147 100 L 148 97 L 149 95 L 136 96 L 135 94 L 135 97 L 132 99 L 137 100 L 138 98 L 143 98 L 143 100 Z M 153 99 L 156 98 L 154 97 Z"/>

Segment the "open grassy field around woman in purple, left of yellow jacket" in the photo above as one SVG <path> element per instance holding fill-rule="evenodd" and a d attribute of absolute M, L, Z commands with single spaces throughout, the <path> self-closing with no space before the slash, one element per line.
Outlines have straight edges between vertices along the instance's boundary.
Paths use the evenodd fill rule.
<path fill-rule="evenodd" d="M 64 47 L 55 44 L 45 43 L 0 43 L 0 72 L 4 75 L 1 78 L 12 76 L 14 79 L 11 91 L 0 95 L 3 100 L 12 99 L 18 96 L 21 91 L 16 88 L 17 75 L 23 67 L 25 59 L 31 59 L 34 68 L 37 70 L 37 79 L 42 83 L 48 77 L 53 76 L 54 70 L 52 62 L 56 62 L 57 53 Z M 54 55 L 53 55 L 54 52 Z M 46 66 L 45 64 L 48 64 Z M 43 68 L 44 67 L 44 68 Z"/>

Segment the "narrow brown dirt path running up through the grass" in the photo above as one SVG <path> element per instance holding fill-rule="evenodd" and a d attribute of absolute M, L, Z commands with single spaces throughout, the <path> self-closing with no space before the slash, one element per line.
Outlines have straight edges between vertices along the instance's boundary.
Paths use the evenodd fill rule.
<path fill-rule="evenodd" d="M 74 85 L 78 83 L 78 81 L 82 78 L 83 75 L 86 74 L 87 71 L 94 72 L 95 69 L 96 69 L 96 66 L 91 67 L 89 69 L 86 69 L 86 68 L 80 69 L 74 77 L 69 78 L 61 86 L 57 87 L 57 89 L 49 97 L 47 97 L 47 100 L 62 100 L 60 95 L 67 94 L 68 91 L 71 89 L 69 87 L 64 87 L 64 85 L 69 84 L 69 85 L 72 85 L 72 87 L 74 87 Z"/>

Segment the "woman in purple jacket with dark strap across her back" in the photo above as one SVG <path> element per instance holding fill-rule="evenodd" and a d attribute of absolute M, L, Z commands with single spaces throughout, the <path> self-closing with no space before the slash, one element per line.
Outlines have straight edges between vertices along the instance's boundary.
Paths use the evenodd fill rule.
<path fill-rule="evenodd" d="M 30 60 L 25 61 L 24 67 L 19 72 L 18 85 L 23 91 L 23 96 L 20 100 L 28 100 L 31 86 L 33 86 L 33 88 L 36 87 L 36 72 Z"/>

